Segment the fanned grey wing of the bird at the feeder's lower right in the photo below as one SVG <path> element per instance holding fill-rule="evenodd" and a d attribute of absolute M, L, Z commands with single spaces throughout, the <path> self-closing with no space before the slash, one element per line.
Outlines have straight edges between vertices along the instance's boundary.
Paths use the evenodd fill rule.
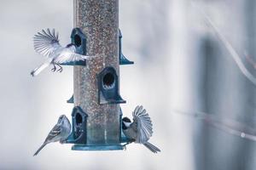
<path fill-rule="evenodd" d="M 133 116 L 133 125 L 132 127 L 137 128 L 137 139 L 138 143 L 144 144 L 148 141 L 148 139 L 152 136 L 153 133 L 153 125 L 150 117 L 143 106 L 137 106 L 135 110 L 132 112 Z"/>

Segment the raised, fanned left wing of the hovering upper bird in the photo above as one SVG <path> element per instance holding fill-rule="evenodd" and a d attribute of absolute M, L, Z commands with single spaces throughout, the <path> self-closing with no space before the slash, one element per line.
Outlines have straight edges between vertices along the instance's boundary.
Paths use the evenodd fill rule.
<path fill-rule="evenodd" d="M 61 48 L 58 32 L 55 29 L 49 31 L 49 28 L 38 32 L 34 36 L 34 48 L 39 54 L 49 57 L 56 49 Z"/>

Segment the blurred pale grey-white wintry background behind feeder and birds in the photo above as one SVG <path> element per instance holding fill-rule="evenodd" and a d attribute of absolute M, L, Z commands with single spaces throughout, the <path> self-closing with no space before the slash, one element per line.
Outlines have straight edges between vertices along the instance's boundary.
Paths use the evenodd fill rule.
<path fill-rule="evenodd" d="M 44 60 L 34 52 L 32 37 L 55 28 L 67 44 L 73 1 L 1 0 L 0 169 L 255 169 L 253 140 L 177 112 L 204 111 L 256 134 L 256 87 L 201 11 L 256 75 L 254 0 L 119 0 L 123 53 L 135 61 L 120 68 L 120 94 L 127 101 L 121 107 L 131 117 L 136 105 L 144 105 L 154 122 L 150 142 L 162 151 L 154 155 L 139 144 L 124 151 L 73 151 L 71 144 L 55 143 L 33 157 L 58 116 L 71 118 L 73 105 L 66 100 L 73 94 L 73 67 L 31 77 Z"/>

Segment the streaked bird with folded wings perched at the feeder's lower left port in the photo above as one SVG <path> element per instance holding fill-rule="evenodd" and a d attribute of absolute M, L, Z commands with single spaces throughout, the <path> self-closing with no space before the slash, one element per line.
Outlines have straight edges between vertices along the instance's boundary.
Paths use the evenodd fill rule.
<path fill-rule="evenodd" d="M 59 117 L 57 124 L 55 124 L 55 127 L 51 129 L 47 138 L 44 140 L 44 144 L 40 146 L 40 148 L 36 151 L 34 156 L 37 156 L 39 151 L 42 150 L 46 144 L 57 141 L 60 141 L 61 143 L 64 142 L 70 135 L 70 133 L 71 124 L 68 121 L 67 116 L 61 115 Z"/>

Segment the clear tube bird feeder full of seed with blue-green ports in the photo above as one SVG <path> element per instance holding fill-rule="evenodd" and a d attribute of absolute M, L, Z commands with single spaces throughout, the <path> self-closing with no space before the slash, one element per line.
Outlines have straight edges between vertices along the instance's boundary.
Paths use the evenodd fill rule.
<path fill-rule="evenodd" d="M 121 52 L 118 0 L 74 0 L 71 41 L 76 53 L 94 56 L 74 65 L 73 150 L 123 150 L 121 129 L 125 100 L 119 94 L 119 65 L 133 64 Z"/>

